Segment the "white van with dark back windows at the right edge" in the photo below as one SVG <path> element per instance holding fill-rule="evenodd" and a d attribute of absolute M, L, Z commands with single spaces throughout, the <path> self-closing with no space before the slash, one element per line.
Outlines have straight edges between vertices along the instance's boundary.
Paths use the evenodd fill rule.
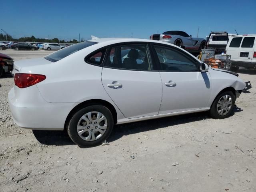
<path fill-rule="evenodd" d="M 256 69 L 256 35 L 232 36 L 226 47 L 226 54 L 231 55 L 231 70 L 239 67 Z"/>

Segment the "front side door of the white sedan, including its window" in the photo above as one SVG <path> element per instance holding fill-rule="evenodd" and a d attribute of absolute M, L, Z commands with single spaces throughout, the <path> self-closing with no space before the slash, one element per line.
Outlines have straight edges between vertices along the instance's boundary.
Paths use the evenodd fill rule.
<path fill-rule="evenodd" d="M 212 84 L 200 62 L 185 51 L 160 44 L 152 45 L 162 79 L 159 114 L 200 110 L 208 106 Z"/>

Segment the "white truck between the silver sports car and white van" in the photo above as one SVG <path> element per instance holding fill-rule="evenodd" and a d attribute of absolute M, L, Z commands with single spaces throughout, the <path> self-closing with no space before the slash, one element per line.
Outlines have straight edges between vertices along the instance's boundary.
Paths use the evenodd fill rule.
<path fill-rule="evenodd" d="M 215 49 L 215 54 L 221 54 L 225 51 L 228 41 L 232 36 L 236 34 L 230 34 L 224 32 L 211 32 L 207 38 L 208 49 Z"/>

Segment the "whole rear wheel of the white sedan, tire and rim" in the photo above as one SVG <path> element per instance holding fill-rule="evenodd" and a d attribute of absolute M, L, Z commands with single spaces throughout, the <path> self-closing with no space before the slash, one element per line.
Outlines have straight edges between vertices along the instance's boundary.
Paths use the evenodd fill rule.
<path fill-rule="evenodd" d="M 88 147 L 102 144 L 114 126 L 108 108 L 92 105 L 77 110 L 67 124 L 68 135 L 78 146 Z"/>

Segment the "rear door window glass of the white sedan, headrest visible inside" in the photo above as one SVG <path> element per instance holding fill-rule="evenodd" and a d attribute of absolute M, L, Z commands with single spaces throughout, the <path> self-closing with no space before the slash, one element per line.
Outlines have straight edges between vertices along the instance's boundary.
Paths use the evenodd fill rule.
<path fill-rule="evenodd" d="M 151 70 L 146 44 L 112 47 L 105 66 L 130 70 Z"/>

